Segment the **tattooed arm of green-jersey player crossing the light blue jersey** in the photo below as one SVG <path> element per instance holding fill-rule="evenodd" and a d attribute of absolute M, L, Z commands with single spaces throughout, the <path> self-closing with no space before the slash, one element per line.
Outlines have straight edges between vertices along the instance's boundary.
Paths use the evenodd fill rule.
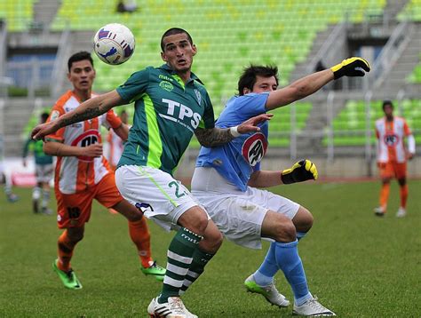
<path fill-rule="evenodd" d="M 272 116 L 273 114 L 257 115 L 255 117 L 251 117 L 244 123 L 231 128 L 197 128 L 195 130 L 195 136 L 203 147 L 218 147 L 226 144 L 243 133 L 260 131 L 260 128 L 257 126 L 258 123 L 270 120 Z"/>

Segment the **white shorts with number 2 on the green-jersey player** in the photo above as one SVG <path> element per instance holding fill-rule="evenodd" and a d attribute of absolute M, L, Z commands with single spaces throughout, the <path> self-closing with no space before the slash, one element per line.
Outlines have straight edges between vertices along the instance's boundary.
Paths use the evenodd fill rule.
<path fill-rule="evenodd" d="M 179 180 L 152 167 L 123 165 L 115 171 L 115 185 L 124 199 L 167 231 L 179 228 L 181 214 L 199 205 Z"/>

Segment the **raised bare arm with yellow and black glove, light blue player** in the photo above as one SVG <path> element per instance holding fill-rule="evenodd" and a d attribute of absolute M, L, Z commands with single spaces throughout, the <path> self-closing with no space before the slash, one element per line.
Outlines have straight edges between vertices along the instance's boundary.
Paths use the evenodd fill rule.
<path fill-rule="evenodd" d="M 369 69 L 369 62 L 364 59 L 350 58 L 343 60 L 332 68 L 300 78 L 280 90 L 270 92 L 266 101 L 266 109 L 282 107 L 295 100 L 304 99 L 320 90 L 330 81 L 342 76 L 364 76 L 364 71 L 369 72 Z"/>

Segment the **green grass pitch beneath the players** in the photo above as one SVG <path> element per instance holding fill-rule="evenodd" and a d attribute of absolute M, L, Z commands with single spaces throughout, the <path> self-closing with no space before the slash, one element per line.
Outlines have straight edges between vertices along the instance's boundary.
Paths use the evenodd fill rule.
<path fill-rule="evenodd" d="M 409 182 L 409 215 L 396 219 L 398 187 L 390 211 L 376 218 L 377 182 L 307 183 L 276 192 L 314 214 L 314 227 L 299 243 L 310 290 L 340 317 L 419 317 L 421 306 L 421 181 Z M 17 189 L 19 203 L 0 196 L 1 317 L 146 317 L 160 283 L 139 270 L 125 220 L 94 205 L 72 265 L 83 290 L 66 290 L 52 272 L 55 218 L 33 215 L 30 190 Z M 149 222 L 155 258 L 165 264 L 171 234 Z M 250 295 L 243 280 L 266 254 L 225 242 L 205 274 L 184 296 L 199 317 L 288 317 L 291 307 L 269 306 Z M 279 290 L 292 298 L 282 273 Z"/>

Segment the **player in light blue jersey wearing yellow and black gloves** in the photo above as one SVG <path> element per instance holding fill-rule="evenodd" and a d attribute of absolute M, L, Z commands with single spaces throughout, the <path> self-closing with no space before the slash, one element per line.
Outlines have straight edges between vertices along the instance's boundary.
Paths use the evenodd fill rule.
<path fill-rule="evenodd" d="M 251 116 L 302 99 L 340 76 L 363 76 L 369 63 L 360 58 L 306 76 L 276 90 L 277 68 L 246 68 L 239 80 L 240 96 L 230 99 L 218 118 L 218 128 L 232 127 Z M 258 187 L 317 179 L 314 163 L 303 160 L 285 171 L 262 171 L 266 153 L 268 123 L 260 131 L 243 134 L 220 147 L 202 147 L 192 179 L 192 193 L 203 204 L 218 229 L 230 241 L 251 249 L 261 248 L 261 239 L 272 239 L 270 249 L 256 273 L 245 283 L 247 290 L 263 295 L 276 306 L 290 302 L 276 290 L 274 274 L 279 269 L 294 293 L 293 314 L 335 315 L 308 290 L 306 274 L 298 256 L 298 240 L 313 225 L 306 208 Z"/>

